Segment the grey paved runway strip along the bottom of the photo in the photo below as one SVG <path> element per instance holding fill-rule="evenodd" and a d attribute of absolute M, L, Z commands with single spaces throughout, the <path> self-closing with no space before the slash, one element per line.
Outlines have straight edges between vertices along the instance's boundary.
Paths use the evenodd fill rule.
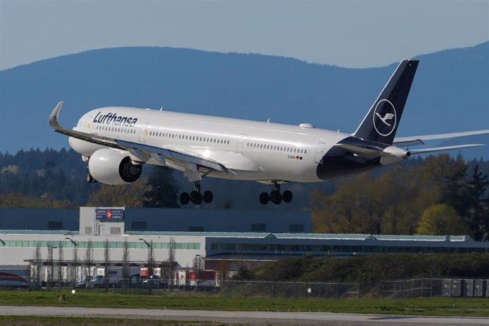
<path fill-rule="evenodd" d="M 278 313 L 215 310 L 161 310 L 84 307 L 0 306 L 0 315 L 107 317 L 238 323 L 249 325 L 489 325 L 489 318 L 359 315 L 347 313 Z"/>

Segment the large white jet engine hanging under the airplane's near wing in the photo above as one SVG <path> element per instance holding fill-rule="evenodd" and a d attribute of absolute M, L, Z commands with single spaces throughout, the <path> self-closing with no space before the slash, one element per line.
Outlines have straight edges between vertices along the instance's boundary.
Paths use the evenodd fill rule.
<path fill-rule="evenodd" d="M 89 171 L 102 184 L 130 184 L 139 179 L 141 164 L 133 164 L 128 154 L 103 148 L 89 159 Z"/>

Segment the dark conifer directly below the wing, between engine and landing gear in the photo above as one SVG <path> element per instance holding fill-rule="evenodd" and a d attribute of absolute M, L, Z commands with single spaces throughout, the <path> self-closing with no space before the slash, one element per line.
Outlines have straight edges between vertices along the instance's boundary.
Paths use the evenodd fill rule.
<path fill-rule="evenodd" d="M 153 167 L 147 179 L 150 189 L 145 193 L 145 207 L 179 208 L 179 187 L 168 167 Z"/>

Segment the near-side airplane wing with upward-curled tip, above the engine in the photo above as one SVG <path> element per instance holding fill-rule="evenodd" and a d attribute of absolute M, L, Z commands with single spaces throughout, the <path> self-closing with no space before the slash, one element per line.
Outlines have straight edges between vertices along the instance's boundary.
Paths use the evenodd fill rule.
<path fill-rule="evenodd" d="M 57 104 L 49 118 L 50 126 L 57 133 L 62 133 L 64 135 L 68 135 L 69 137 L 78 138 L 86 142 L 93 142 L 94 144 L 116 148 L 118 150 L 126 150 L 130 152 L 130 154 L 133 154 L 134 157 L 140 157 L 141 162 L 145 162 L 143 157 L 148 156 L 162 162 L 163 164 L 167 164 L 167 160 L 169 160 L 174 164 L 184 167 L 188 173 L 193 173 L 194 176 L 198 174 L 198 167 L 204 167 L 225 173 L 234 173 L 230 171 L 232 168 L 237 169 L 239 167 L 248 167 L 252 170 L 256 170 L 258 168 L 254 162 L 236 153 L 218 151 L 204 152 L 204 150 L 199 152 L 183 147 L 155 147 L 137 142 L 129 142 L 127 140 L 103 137 L 99 135 L 91 135 L 89 133 L 63 128 L 58 122 L 58 114 L 60 113 L 62 104 L 63 102 Z"/>

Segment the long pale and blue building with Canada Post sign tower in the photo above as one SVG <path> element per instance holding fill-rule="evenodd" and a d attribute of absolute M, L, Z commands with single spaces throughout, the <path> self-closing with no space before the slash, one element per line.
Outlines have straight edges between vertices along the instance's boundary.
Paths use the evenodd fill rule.
<path fill-rule="evenodd" d="M 173 248 L 176 270 L 192 269 L 196 258 L 202 260 L 205 269 L 218 270 L 225 264 L 228 270 L 235 270 L 243 264 L 254 267 L 304 254 L 347 257 L 489 252 L 489 242 L 468 236 L 315 234 L 311 233 L 309 213 L 300 212 L 81 207 L 78 222 L 69 210 L 0 212 L 4 229 L 0 230 L 0 271 L 26 270 L 36 247 L 40 247 L 43 265 L 48 264 L 52 252 L 52 261 L 62 260 L 66 268 L 84 264 L 91 247 L 91 263 L 100 267 L 106 241 L 112 266 L 120 266 L 127 242 L 130 265 L 135 270 L 147 264 L 150 245 L 157 266 L 168 261 Z M 68 230 L 56 230 L 64 226 Z M 75 226 L 78 230 L 69 230 Z"/>

